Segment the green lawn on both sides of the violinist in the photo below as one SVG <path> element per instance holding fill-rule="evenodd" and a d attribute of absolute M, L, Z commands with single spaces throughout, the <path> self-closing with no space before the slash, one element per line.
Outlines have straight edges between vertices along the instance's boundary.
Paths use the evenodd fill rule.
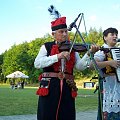
<path fill-rule="evenodd" d="M 37 88 L 15 89 L 10 86 L 0 85 L 0 116 L 36 114 L 38 96 Z M 96 110 L 97 93 L 94 90 L 79 89 L 76 99 L 76 110 Z"/>

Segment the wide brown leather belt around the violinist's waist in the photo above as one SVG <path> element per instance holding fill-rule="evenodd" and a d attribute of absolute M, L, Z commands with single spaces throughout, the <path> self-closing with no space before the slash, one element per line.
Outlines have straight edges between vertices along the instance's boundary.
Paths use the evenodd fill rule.
<path fill-rule="evenodd" d="M 42 73 L 42 77 L 57 77 L 60 80 L 61 79 L 70 79 L 70 80 L 74 80 L 74 76 L 70 75 L 70 74 L 64 74 L 62 72 L 59 73 L 54 73 L 54 72 L 44 72 Z"/>

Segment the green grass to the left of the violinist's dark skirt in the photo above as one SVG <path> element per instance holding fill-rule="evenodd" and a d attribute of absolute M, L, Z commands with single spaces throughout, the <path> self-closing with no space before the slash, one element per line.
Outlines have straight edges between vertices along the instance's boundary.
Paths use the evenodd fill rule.
<path fill-rule="evenodd" d="M 0 86 L 0 115 L 35 114 L 38 99 L 35 92 L 34 88 L 12 90 Z"/>

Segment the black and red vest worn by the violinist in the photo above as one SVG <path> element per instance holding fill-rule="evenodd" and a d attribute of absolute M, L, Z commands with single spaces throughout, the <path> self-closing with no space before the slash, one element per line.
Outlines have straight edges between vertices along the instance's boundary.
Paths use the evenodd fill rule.
<path fill-rule="evenodd" d="M 45 47 L 47 50 L 47 56 L 60 53 L 58 45 L 55 44 L 55 41 L 45 43 Z M 72 51 L 70 54 L 70 60 L 66 61 L 65 73 L 73 74 L 74 65 L 75 65 L 75 52 Z M 49 67 L 45 67 L 45 68 L 43 68 L 43 71 L 44 72 L 59 72 L 59 71 L 61 71 L 61 62 L 58 61 Z"/>

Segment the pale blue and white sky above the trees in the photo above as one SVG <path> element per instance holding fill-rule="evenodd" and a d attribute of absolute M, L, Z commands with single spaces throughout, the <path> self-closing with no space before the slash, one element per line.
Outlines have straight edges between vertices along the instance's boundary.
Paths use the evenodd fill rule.
<path fill-rule="evenodd" d="M 61 17 L 66 17 L 68 26 L 83 13 L 87 32 L 90 27 L 97 30 L 115 27 L 120 31 L 119 0 L 0 0 L 0 54 L 14 44 L 51 34 L 50 5 L 55 6 Z"/>

